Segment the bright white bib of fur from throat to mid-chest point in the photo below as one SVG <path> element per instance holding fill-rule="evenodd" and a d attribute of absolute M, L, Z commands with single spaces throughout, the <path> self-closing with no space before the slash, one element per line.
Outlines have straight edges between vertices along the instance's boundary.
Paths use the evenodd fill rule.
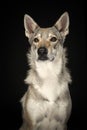
<path fill-rule="evenodd" d="M 61 86 L 58 82 L 62 61 L 58 64 L 53 62 L 36 62 L 36 70 L 42 80 L 41 86 L 36 86 L 38 91 L 50 101 L 54 101 L 61 91 Z M 63 86 L 62 86 L 63 87 Z"/>

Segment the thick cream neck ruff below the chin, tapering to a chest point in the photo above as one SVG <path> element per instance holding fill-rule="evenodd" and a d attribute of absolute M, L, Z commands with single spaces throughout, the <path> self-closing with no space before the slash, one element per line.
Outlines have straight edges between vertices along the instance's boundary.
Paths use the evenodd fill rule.
<path fill-rule="evenodd" d="M 65 67 L 65 57 L 59 56 L 54 61 L 35 61 L 25 80 L 47 100 L 55 101 L 61 89 L 67 89 L 70 75 Z"/>

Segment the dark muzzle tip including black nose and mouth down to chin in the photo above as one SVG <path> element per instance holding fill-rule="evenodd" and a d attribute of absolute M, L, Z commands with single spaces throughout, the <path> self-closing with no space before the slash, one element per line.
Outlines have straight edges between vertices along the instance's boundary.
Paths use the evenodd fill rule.
<path fill-rule="evenodd" d="M 38 60 L 48 60 L 47 54 L 48 50 L 46 47 L 40 47 L 38 48 Z"/>

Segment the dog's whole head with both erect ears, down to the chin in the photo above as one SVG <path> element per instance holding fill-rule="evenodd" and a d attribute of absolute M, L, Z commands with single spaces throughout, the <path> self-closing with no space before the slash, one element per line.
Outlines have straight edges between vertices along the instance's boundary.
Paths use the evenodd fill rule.
<path fill-rule="evenodd" d="M 65 12 L 54 26 L 41 28 L 29 15 L 25 14 L 24 27 L 25 35 L 31 44 L 32 58 L 39 61 L 53 61 L 69 33 L 69 15 Z"/>

